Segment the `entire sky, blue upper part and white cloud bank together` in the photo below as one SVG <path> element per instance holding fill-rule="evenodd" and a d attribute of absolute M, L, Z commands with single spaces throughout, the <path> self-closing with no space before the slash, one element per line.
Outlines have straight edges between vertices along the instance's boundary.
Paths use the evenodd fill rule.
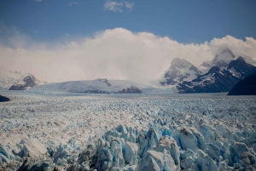
<path fill-rule="evenodd" d="M 39 80 L 158 79 L 173 58 L 256 57 L 256 1 L 0 0 L 0 66 Z"/>

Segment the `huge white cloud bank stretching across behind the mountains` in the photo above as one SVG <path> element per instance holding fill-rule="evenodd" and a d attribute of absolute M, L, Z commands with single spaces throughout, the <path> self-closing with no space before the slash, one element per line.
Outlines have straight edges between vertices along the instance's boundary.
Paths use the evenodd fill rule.
<path fill-rule="evenodd" d="M 201 44 L 183 44 L 150 32 L 115 28 L 94 37 L 60 43 L 36 43 L 29 37 L 10 37 L 12 48 L 0 43 L 0 68 L 31 72 L 39 80 L 63 82 L 96 79 L 157 79 L 173 58 L 200 65 L 222 48 L 255 56 L 256 40 L 226 36 Z"/>

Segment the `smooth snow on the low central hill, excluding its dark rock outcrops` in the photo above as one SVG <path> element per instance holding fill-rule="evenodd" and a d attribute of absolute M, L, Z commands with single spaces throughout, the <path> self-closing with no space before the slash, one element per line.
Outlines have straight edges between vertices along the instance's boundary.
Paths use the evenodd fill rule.
<path fill-rule="evenodd" d="M 109 86 L 109 84 L 110 86 Z M 83 93 L 88 90 L 102 90 L 108 93 L 115 93 L 123 88 L 131 88 L 136 86 L 142 89 L 145 94 L 174 94 L 177 93 L 174 86 L 162 87 L 157 81 L 147 81 L 145 83 L 137 83 L 130 80 L 108 80 L 108 83 L 102 82 L 102 79 L 86 80 L 86 81 L 72 81 L 65 83 L 48 83 L 40 86 L 30 88 L 30 92 L 69 92 L 69 93 Z"/>

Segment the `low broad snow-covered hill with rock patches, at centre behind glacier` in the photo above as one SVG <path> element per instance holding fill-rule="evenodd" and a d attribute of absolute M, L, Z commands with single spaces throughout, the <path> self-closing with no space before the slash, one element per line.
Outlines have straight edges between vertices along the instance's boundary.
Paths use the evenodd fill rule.
<path fill-rule="evenodd" d="M 29 91 L 54 91 L 87 94 L 141 94 L 157 89 L 158 88 L 152 85 L 136 83 L 128 80 L 108 80 L 106 78 L 98 78 L 95 80 L 49 83 L 31 88 Z"/>

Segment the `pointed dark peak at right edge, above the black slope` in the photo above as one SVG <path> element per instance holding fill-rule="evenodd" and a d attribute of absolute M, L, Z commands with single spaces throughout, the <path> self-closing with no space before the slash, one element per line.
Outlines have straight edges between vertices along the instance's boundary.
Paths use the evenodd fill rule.
<path fill-rule="evenodd" d="M 228 70 L 236 74 L 236 77 L 243 79 L 255 73 L 256 67 L 247 64 L 246 61 L 240 56 L 236 60 L 230 61 Z"/>

